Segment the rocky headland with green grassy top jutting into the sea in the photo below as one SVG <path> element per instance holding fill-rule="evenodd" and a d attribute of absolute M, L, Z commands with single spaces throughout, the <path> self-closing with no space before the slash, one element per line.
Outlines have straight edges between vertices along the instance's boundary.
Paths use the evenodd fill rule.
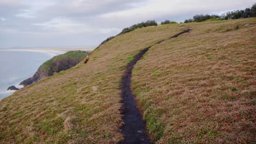
<path fill-rule="evenodd" d="M 59 73 L 62 70 L 70 69 L 82 61 L 86 55 L 88 55 L 88 52 L 85 51 L 70 51 L 63 55 L 55 56 L 40 65 L 36 73 L 32 77 L 22 81 L 20 85 L 26 87 L 44 77 L 52 76 L 54 73 Z"/>

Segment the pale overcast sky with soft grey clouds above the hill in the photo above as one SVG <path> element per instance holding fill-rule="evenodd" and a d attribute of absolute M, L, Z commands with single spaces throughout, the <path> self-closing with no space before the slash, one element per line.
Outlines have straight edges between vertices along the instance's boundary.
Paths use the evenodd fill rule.
<path fill-rule="evenodd" d="M 255 0 L 0 0 L 0 47 L 97 46 L 135 23 L 183 22 Z"/>

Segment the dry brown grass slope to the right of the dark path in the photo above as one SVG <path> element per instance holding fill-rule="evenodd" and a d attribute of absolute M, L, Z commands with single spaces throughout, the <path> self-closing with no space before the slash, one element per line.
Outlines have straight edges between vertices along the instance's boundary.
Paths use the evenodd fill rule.
<path fill-rule="evenodd" d="M 153 46 L 133 70 L 150 136 L 156 143 L 255 143 L 256 19 L 187 26 L 193 31 Z"/>

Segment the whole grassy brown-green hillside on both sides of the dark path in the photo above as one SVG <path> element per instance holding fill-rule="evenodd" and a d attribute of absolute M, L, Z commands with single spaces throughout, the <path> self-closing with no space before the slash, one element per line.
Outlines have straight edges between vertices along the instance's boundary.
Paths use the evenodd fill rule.
<path fill-rule="evenodd" d="M 1 100 L 0 143 L 123 140 L 119 83 L 133 56 L 152 45 L 135 65 L 131 84 L 154 142 L 255 143 L 255 33 L 252 18 L 119 35 L 86 64 Z"/>

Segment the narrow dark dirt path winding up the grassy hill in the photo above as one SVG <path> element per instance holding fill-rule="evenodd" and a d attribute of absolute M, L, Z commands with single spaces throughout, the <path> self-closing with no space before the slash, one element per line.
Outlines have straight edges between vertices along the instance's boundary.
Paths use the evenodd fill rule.
<path fill-rule="evenodd" d="M 191 31 L 191 29 L 187 29 L 181 33 L 178 33 L 174 35 L 171 38 L 176 38 L 179 35 L 183 33 L 187 33 Z M 169 39 L 171 39 L 169 38 Z M 167 40 L 167 39 L 166 39 Z M 159 41 L 157 44 L 160 44 L 162 41 Z M 133 66 L 139 61 L 139 59 L 142 58 L 144 53 L 146 53 L 149 48 L 152 46 L 147 47 L 146 49 L 142 50 L 141 52 L 138 53 L 131 61 L 125 70 L 125 74 L 123 76 L 123 79 L 120 83 L 120 89 L 122 92 L 123 96 L 123 104 L 124 104 L 124 123 L 125 125 L 122 128 L 121 133 L 124 134 L 125 140 L 120 142 L 121 144 L 124 143 L 151 143 L 148 135 L 146 133 L 146 123 L 143 121 L 141 113 L 139 113 L 139 110 L 136 107 L 136 101 L 135 101 L 135 95 L 131 93 L 131 74 L 132 74 L 132 69 Z"/>

